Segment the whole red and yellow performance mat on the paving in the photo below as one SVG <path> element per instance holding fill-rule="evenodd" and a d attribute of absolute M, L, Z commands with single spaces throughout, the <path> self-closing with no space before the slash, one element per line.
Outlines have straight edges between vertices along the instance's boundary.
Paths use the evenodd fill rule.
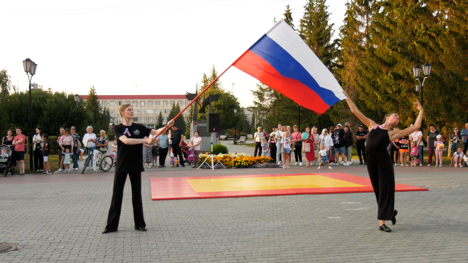
<path fill-rule="evenodd" d="M 395 191 L 427 191 L 395 183 Z M 151 178 L 153 200 L 373 192 L 369 178 L 343 173 Z"/>

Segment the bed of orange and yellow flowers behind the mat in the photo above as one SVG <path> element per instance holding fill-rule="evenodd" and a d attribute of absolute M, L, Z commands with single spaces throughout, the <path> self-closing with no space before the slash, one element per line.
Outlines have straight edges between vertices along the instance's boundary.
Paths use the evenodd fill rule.
<path fill-rule="evenodd" d="M 266 157 L 266 156 L 255 157 L 255 156 L 250 156 L 247 153 L 227 153 L 227 154 L 221 153 L 216 156 L 226 168 L 255 168 L 252 166 L 273 162 L 273 159 L 271 159 L 270 157 Z M 203 161 L 205 161 L 207 157 L 208 157 L 208 154 L 202 153 L 199 155 L 198 160 L 200 161 L 200 163 L 202 163 Z"/>

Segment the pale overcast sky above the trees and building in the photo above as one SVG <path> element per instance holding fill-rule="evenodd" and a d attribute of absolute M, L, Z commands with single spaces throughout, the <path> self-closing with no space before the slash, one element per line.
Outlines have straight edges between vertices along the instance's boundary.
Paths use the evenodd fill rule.
<path fill-rule="evenodd" d="M 3 1 L 0 68 L 28 88 L 22 60 L 38 64 L 33 82 L 85 95 L 194 92 L 212 64 L 221 73 L 282 18 L 299 25 L 306 0 Z M 328 0 L 330 22 L 343 24 L 346 0 Z M 337 37 L 337 32 L 335 33 Z M 16 80 L 12 79 L 13 85 Z M 257 80 L 232 67 L 241 105 Z M 135 85 L 138 85 L 135 88 Z M 141 86 L 143 85 L 143 86 Z"/>

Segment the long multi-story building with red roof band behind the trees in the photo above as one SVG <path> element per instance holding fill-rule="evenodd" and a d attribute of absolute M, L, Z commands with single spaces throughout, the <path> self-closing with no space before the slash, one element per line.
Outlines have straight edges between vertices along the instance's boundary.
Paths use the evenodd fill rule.
<path fill-rule="evenodd" d="M 82 95 L 86 100 L 88 95 Z M 185 95 L 98 95 L 102 108 L 107 108 L 110 113 L 110 122 L 122 123 L 122 116 L 118 110 L 122 104 L 133 106 L 133 122 L 145 124 L 147 127 L 155 127 L 159 113 L 162 113 L 163 124 L 168 122 L 169 111 L 174 103 L 178 103 L 181 110 L 190 102 Z M 183 112 L 184 120 L 187 120 L 189 110 Z"/>

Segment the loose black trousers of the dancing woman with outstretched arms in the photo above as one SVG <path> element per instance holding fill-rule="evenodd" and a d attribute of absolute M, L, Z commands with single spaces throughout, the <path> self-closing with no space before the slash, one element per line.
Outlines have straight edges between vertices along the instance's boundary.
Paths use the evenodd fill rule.
<path fill-rule="evenodd" d="M 367 152 L 367 171 L 377 198 L 377 219 L 391 220 L 395 206 L 395 173 L 388 152 Z"/>

